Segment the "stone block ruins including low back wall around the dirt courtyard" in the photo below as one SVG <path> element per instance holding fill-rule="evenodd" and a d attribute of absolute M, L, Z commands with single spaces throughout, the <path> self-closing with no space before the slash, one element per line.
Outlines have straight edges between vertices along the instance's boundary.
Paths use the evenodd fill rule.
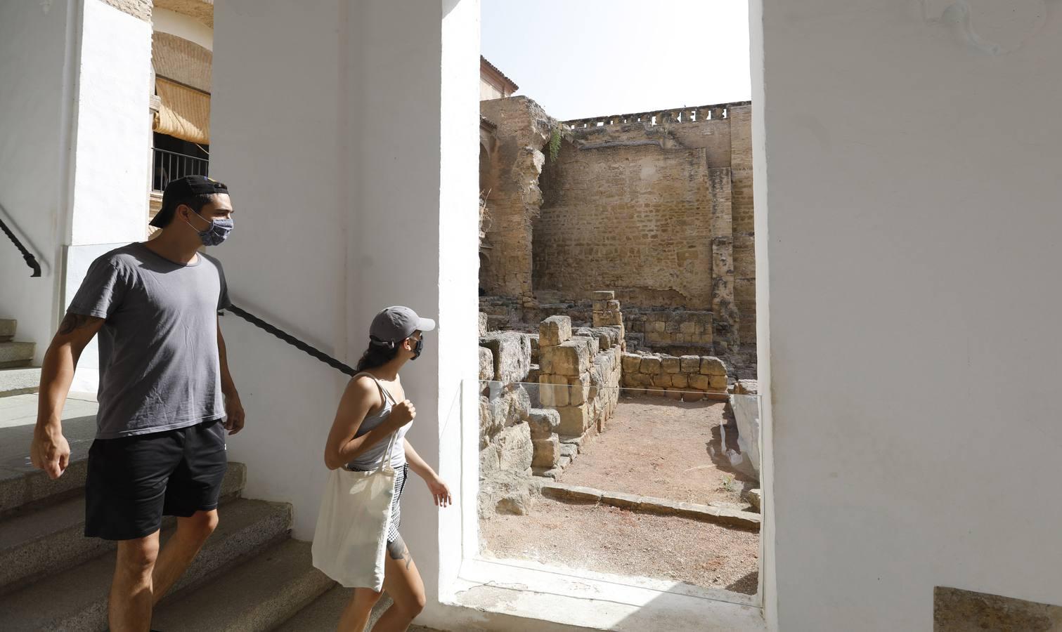
<path fill-rule="evenodd" d="M 543 319 L 537 333 L 487 331 L 487 317 L 480 314 L 481 517 L 529 512 L 542 481 L 559 477 L 585 442 L 605 431 L 621 388 L 686 402 L 725 401 L 730 390 L 754 392 L 752 381 L 732 387 L 727 366 L 715 356 L 627 351 L 615 294 L 593 297 L 592 327 L 585 328 L 556 315 Z M 744 400 L 731 406 L 748 428 L 742 435 L 758 437 L 758 412 Z M 756 441 L 746 441 L 741 453 Z M 744 459 L 743 467 L 754 462 L 758 470 L 758 450 L 754 461 L 751 456 L 722 458 Z"/>

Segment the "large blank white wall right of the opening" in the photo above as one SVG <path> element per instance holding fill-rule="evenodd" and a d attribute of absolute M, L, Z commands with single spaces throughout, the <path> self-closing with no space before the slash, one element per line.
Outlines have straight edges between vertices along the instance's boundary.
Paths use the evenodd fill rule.
<path fill-rule="evenodd" d="M 775 629 L 1062 603 L 1062 5 L 967 5 L 753 2 Z"/>

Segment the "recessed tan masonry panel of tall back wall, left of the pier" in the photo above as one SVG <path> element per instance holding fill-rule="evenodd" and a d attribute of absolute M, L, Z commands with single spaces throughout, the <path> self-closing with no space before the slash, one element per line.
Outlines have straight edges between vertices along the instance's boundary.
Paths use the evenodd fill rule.
<path fill-rule="evenodd" d="M 582 298 L 605 286 L 624 304 L 712 308 L 703 148 L 565 143 L 542 186 L 535 289 Z"/>

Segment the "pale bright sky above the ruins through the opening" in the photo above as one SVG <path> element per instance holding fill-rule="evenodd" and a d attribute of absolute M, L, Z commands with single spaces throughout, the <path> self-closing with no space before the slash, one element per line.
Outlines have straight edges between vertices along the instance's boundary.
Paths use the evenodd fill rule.
<path fill-rule="evenodd" d="M 562 121 L 751 99 L 748 0 L 481 0 L 482 53 Z"/>

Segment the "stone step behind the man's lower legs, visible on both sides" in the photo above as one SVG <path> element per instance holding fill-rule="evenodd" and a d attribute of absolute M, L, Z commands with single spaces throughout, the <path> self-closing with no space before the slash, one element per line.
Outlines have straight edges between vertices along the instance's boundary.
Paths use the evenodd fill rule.
<path fill-rule="evenodd" d="M 178 581 L 176 591 L 194 590 L 234 564 L 260 556 L 287 540 L 291 528 L 291 505 L 286 503 L 239 499 L 222 507 L 219 513 L 218 529 Z M 172 531 L 172 528 L 164 530 L 164 541 Z M 105 630 L 107 592 L 114 568 L 114 556 L 103 555 L 0 596 L 4 632 Z M 267 579 L 258 577 L 238 585 L 213 586 L 213 591 L 223 599 L 235 599 L 256 581 Z"/>

